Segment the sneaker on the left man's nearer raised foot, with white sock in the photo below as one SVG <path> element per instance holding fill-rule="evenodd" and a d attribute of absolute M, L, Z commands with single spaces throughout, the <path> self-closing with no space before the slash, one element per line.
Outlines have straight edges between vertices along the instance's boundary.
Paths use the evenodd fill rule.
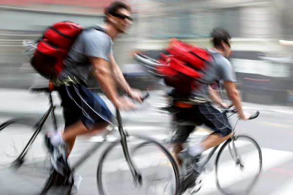
<path fill-rule="evenodd" d="M 50 152 L 51 164 L 53 168 L 61 175 L 67 176 L 70 172 L 69 165 L 66 159 L 66 145 L 60 144 L 53 146 L 50 140 L 50 136 L 45 135 L 45 145 Z"/>

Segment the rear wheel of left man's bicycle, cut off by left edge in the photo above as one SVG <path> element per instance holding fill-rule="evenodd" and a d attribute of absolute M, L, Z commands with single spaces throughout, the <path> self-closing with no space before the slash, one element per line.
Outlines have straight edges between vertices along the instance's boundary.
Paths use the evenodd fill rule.
<path fill-rule="evenodd" d="M 7 192 L 3 192 L 4 194 L 15 192 L 11 185 L 12 179 L 16 185 L 30 188 L 33 190 L 31 193 L 38 193 L 36 186 L 41 189 L 49 174 L 51 163 L 42 143 L 42 136 L 34 137 L 27 150 L 20 156 L 36 132 L 35 123 L 34 118 L 20 117 L 0 124 L 0 179 L 2 185 L 7 184 Z"/>

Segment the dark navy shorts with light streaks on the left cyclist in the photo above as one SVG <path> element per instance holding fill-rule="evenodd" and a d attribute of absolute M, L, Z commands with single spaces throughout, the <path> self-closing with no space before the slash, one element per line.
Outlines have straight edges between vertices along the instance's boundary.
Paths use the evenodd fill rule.
<path fill-rule="evenodd" d="M 61 85 L 56 88 L 62 105 L 65 127 L 81 120 L 88 130 L 96 123 L 111 123 L 113 115 L 105 101 L 82 84 Z"/>

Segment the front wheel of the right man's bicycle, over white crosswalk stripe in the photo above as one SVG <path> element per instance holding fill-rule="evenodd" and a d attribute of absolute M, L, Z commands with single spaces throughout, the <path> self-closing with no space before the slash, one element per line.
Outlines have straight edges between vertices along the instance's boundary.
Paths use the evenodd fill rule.
<path fill-rule="evenodd" d="M 251 137 L 227 140 L 216 158 L 216 184 L 223 195 L 248 195 L 262 168 L 262 153 Z"/>

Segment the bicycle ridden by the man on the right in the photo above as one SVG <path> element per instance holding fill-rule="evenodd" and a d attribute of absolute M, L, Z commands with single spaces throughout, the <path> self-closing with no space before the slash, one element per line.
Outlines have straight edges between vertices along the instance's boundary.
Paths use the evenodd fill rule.
<path fill-rule="evenodd" d="M 221 95 L 221 92 L 220 92 L 220 95 Z M 170 94 L 168 94 L 168 96 L 170 96 Z M 222 96 L 221 96 L 222 97 Z M 176 101 L 179 101 L 181 99 L 176 99 L 176 98 L 173 98 L 173 97 L 170 97 L 171 100 L 170 100 L 170 106 L 167 106 L 167 107 L 161 107 L 158 109 L 158 112 L 162 112 L 164 114 L 166 113 L 169 113 L 169 115 L 172 115 L 173 116 L 173 121 L 174 121 L 174 127 L 172 128 L 171 130 L 171 133 L 169 134 L 169 137 L 167 139 L 165 139 L 161 144 L 164 145 L 166 148 L 168 148 L 169 150 L 172 150 L 172 145 L 173 145 L 173 140 L 176 138 L 176 131 L 178 129 L 179 126 L 185 126 L 185 125 L 191 125 L 191 126 L 198 126 L 198 124 L 196 122 L 192 122 L 192 121 L 176 121 L 176 119 L 174 118 L 174 115 L 175 113 L 179 112 L 180 111 L 180 107 L 176 107 L 174 106 L 174 102 Z M 182 102 L 181 102 L 182 103 Z M 234 108 L 232 108 L 233 106 L 230 105 L 228 108 L 221 108 L 223 112 L 225 113 L 231 113 L 230 116 L 228 117 L 231 117 L 232 115 L 236 114 L 236 111 Z M 249 120 L 251 119 L 254 119 L 256 117 L 259 116 L 259 112 L 257 111 L 254 115 L 252 115 L 250 117 Z M 239 118 L 237 120 L 237 122 L 239 121 Z M 220 182 L 219 182 L 219 179 L 218 179 L 218 171 L 219 171 L 219 163 L 220 163 L 220 158 L 224 155 L 224 151 L 226 148 L 228 148 L 229 150 L 229 153 L 230 153 L 230 156 L 232 157 L 232 160 L 235 162 L 235 165 L 239 167 L 239 169 L 241 170 L 244 170 L 245 168 L 245 165 L 244 165 L 244 162 L 243 162 L 243 159 L 241 158 L 241 156 L 238 154 L 238 151 L 237 151 L 237 147 L 235 146 L 235 142 L 237 140 L 248 140 L 249 142 L 251 142 L 256 150 L 257 150 L 257 153 L 258 155 L 258 167 L 257 167 L 257 173 L 255 174 L 255 177 L 253 178 L 252 182 L 251 182 L 251 185 L 248 187 L 247 189 L 247 194 L 251 192 L 253 186 L 256 184 L 256 181 L 258 179 L 258 176 L 261 172 L 261 169 L 262 169 L 262 153 L 261 153 L 261 149 L 258 145 L 258 143 L 251 137 L 249 136 L 246 136 L 246 135 L 236 135 L 235 134 L 235 127 L 237 125 L 237 122 L 236 124 L 234 125 L 233 129 L 232 129 L 232 136 L 226 140 L 224 143 L 222 143 L 222 146 L 220 147 L 220 145 L 218 146 L 215 146 L 213 147 L 212 149 L 210 149 L 211 151 L 205 155 L 206 157 L 204 158 L 204 162 L 205 162 L 205 165 L 207 165 L 209 163 L 209 160 L 211 159 L 211 157 L 215 154 L 216 150 L 220 147 L 219 149 L 219 152 L 218 154 L 216 155 L 216 159 L 215 159 L 215 173 L 216 173 L 216 185 L 217 185 L 217 188 L 218 190 L 223 194 L 223 195 L 228 195 L 227 192 L 225 192 L 225 190 L 223 189 L 223 187 L 221 186 Z M 185 143 L 185 146 L 184 148 L 188 148 L 188 142 L 190 141 L 190 138 L 188 138 L 189 140 Z M 141 145 L 146 145 L 148 144 L 147 142 L 145 143 L 141 143 Z M 183 176 L 186 175 L 186 170 L 183 170 Z M 180 178 L 181 182 L 184 181 L 184 178 Z M 194 183 L 193 186 L 189 187 L 189 190 L 190 190 L 190 193 L 197 193 L 200 191 L 201 189 L 201 184 L 202 180 L 197 180 L 196 183 Z M 186 189 L 188 190 L 188 189 Z M 186 191 L 184 191 L 186 192 Z"/>

